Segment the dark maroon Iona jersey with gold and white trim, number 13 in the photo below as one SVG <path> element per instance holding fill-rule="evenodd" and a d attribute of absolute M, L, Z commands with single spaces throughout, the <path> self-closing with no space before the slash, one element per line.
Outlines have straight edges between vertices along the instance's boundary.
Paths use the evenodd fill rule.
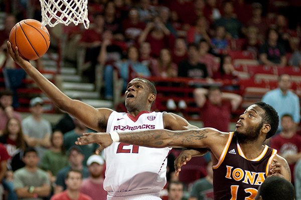
<path fill-rule="evenodd" d="M 247 159 L 230 132 L 218 163 L 213 165 L 214 199 L 254 199 L 276 153 L 276 149 L 264 145 L 258 157 Z"/>

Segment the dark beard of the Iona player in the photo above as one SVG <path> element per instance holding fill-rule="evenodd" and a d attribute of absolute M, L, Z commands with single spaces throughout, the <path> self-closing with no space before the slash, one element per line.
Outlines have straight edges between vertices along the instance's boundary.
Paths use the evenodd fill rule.
<path fill-rule="evenodd" d="M 245 133 L 235 130 L 235 135 L 237 137 L 238 142 L 252 143 L 253 141 L 257 140 L 262 125 L 263 123 L 260 123 L 257 127 L 256 126 L 250 127 Z"/>

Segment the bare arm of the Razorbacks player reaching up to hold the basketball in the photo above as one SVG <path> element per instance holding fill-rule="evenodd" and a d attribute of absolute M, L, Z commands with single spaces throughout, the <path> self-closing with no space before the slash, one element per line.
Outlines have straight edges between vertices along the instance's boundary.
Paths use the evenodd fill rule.
<path fill-rule="evenodd" d="M 28 60 L 19 55 L 18 47 L 12 49 L 12 44 L 8 42 L 8 50 L 12 58 L 26 73 L 36 82 L 39 88 L 54 102 L 60 109 L 82 121 L 86 126 L 103 131 L 98 128 L 98 121 L 105 121 L 112 112 L 108 108 L 96 109 L 79 100 L 73 100 L 65 95 L 59 88 L 43 76 Z"/>

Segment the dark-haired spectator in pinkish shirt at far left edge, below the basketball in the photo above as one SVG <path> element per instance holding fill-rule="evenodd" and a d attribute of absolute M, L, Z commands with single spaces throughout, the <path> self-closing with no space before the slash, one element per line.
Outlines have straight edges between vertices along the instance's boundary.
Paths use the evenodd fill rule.
<path fill-rule="evenodd" d="M 17 118 L 22 121 L 21 114 L 14 110 L 13 105 L 13 92 L 11 90 L 4 89 L 0 92 L 0 135 L 5 128 L 10 118 Z"/>

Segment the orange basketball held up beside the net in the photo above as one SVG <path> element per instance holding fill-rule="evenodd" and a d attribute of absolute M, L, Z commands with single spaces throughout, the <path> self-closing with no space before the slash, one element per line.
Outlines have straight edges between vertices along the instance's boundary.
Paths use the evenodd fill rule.
<path fill-rule="evenodd" d="M 50 35 L 45 26 L 35 19 L 24 19 L 12 28 L 10 42 L 18 46 L 20 55 L 28 60 L 42 57 L 49 48 Z"/>

